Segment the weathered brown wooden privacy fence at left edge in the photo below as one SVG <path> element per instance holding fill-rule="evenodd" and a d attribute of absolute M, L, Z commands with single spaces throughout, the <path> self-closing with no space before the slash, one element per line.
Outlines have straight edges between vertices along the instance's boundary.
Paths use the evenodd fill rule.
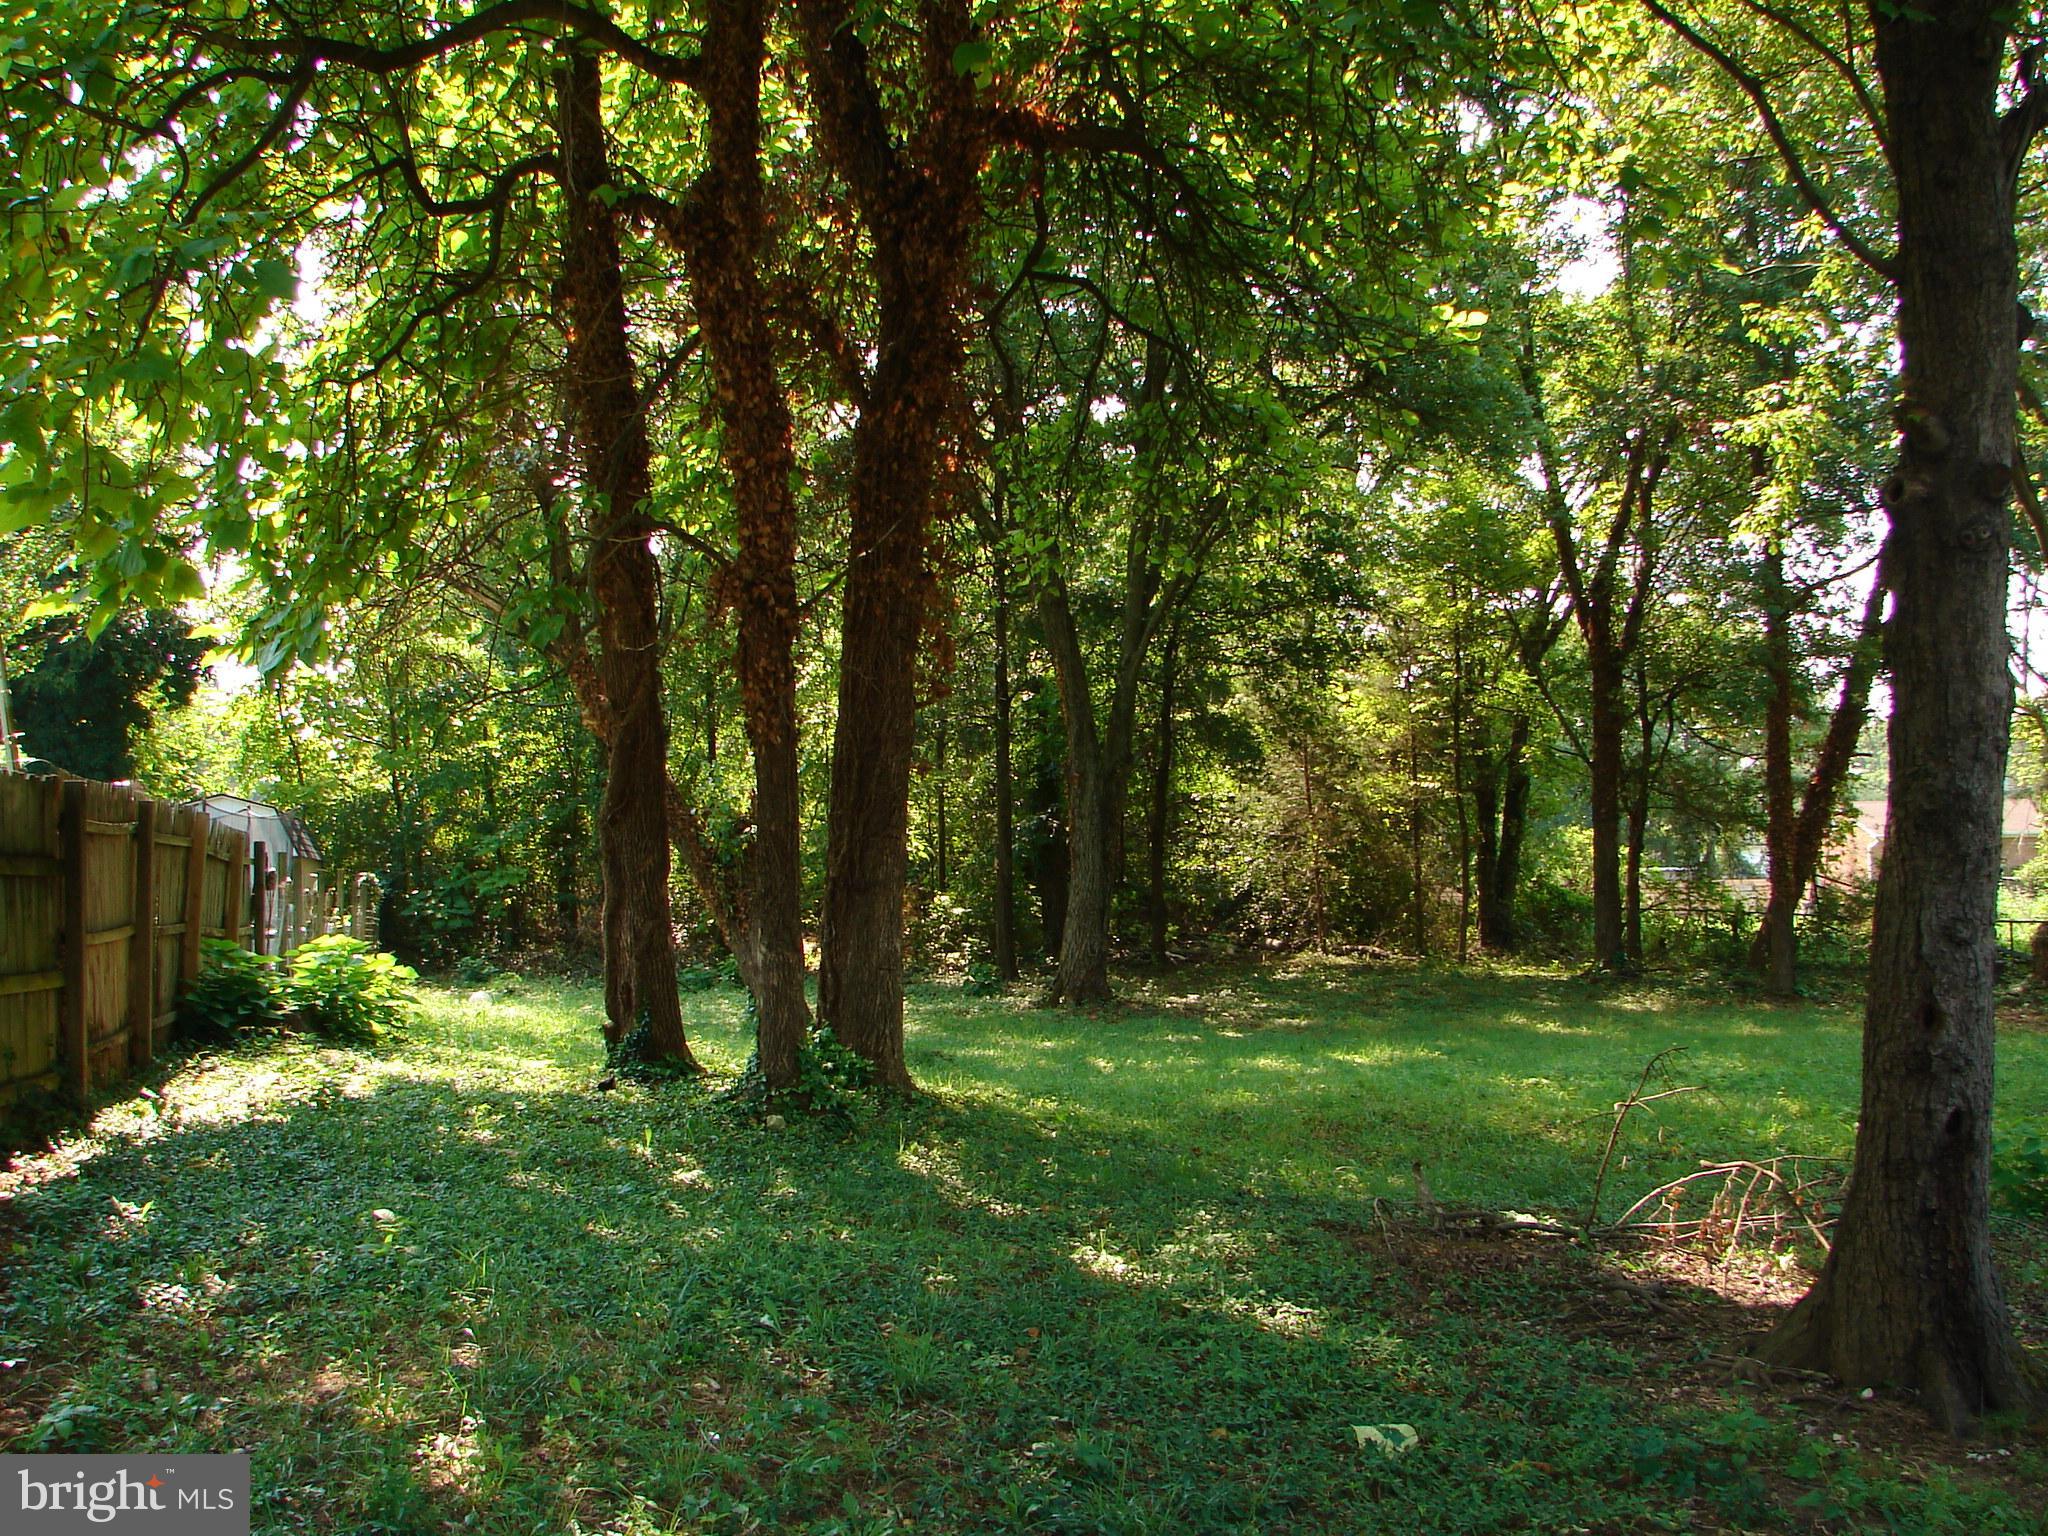
<path fill-rule="evenodd" d="M 250 852 L 131 788 L 0 774 L 0 1108 L 84 1098 L 158 1053 L 199 942 L 248 944 Z"/>

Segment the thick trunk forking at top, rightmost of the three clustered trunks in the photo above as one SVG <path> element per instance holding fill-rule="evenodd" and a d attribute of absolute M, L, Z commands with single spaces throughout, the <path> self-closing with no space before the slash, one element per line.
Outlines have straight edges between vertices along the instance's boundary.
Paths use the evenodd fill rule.
<path fill-rule="evenodd" d="M 952 63 L 975 37 L 965 0 L 920 10 L 922 115 L 901 143 L 848 0 L 799 0 L 797 18 L 819 141 L 872 236 L 877 295 L 874 365 L 854 422 L 817 1006 L 877 1081 L 909 1087 L 903 887 L 926 530 L 958 397 L 989 121 L 973 74 Z"/>

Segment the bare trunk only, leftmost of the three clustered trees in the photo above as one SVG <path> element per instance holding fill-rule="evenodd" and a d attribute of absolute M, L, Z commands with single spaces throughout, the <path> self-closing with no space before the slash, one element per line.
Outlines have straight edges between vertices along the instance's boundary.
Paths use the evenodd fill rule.
<path fill-rule="evenodd" d="M 647 1024 L 647 1053 L 696 1069 L 676 995 L 668 907 L 668 719 L 662 569 L 649 549 L 651 449 L 641 414 L 604 150 L 600 66 L 571 51 L 557 76 L 569 309 L 567 403 L 590 498 L 590 596 L 612 709 L 598 848 L 604 860 L 606 1036 Z"/>

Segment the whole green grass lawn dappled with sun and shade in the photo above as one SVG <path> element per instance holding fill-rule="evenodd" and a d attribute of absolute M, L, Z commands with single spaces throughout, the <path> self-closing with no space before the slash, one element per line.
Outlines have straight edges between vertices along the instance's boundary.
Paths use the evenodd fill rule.
<path fill-rule="evenodd" d="M 928 987 L 930 1090 L 594 1092 L 598 993 L 193 1057 L 20 1159 L 0 1448 L 254 1456 L 268 1532 L 2040 1532 L 2042 1440 L 1749 1384 L 1792 1257 L 1436 1231 L 1849 1149 L 1851 1010 L 1317 963 L 1100 1018 Z M 737 995 L 686 997 L 719 1073 Z M 2001 1042 L 2048 1120 L 2048 1034 Z M 2048 1274 L 2007 1223 L 2036 1341 Z M 1391 1454 L 1354 1425 L 1380 1425 Z"/>

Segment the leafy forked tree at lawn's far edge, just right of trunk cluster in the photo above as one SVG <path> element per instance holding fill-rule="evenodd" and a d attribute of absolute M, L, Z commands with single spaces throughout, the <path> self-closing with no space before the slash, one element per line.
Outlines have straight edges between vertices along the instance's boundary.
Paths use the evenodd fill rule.
<path fill-rule="evenodd" d="M 1473 324 L 1442 285 L 1468 227 L 1446 195 L 1470 61 L 1454 18 L 1094 25 L 1122 121 L 1067 133 L 1071 164 L 1030 170 L 985 309 L 989 436 L 1059 686 L 1047 997 L 1073 1004 L 1110 991 L 1116 834 L 1157 647 L 1235 545 L 1356 473 L 1343 434 L 1399 420 L 1401 358 Z"/>

